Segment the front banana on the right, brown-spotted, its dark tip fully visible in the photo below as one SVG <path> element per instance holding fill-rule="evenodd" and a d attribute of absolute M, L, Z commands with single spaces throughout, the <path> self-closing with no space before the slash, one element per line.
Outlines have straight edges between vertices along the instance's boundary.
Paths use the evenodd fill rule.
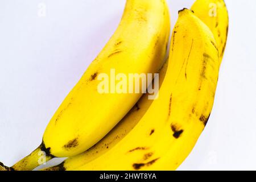
<path fill-rule="evenodd" d="M 213 107 L 220 61 L 209 28 L 179 11 L 159 97 L 113 148 L 75 170 L 174 170 L 191 152 Z"/>

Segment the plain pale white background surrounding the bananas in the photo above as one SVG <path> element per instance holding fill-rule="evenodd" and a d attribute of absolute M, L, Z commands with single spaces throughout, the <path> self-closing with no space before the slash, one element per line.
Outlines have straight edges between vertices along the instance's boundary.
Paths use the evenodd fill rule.
<path fill-rule="evenodd" d="M 38 14 L 40 3 L 46 16 Z M 177 11 L 192 0 L 170 0 Z M 180 170 L 256 169 L 254 0 L 226 0 L 229 38 L 208 125 Z M 34 150 L 61 101 L 118 26 L 125 0 L 2 0 L 0 161 Z"/>

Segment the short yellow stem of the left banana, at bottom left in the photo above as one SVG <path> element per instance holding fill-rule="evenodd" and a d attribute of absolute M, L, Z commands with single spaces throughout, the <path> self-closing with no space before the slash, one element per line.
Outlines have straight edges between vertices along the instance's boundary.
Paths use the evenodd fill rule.
<path fill-rule="evenodd" d="M 32 169 L 46 163 L 48 160 L 53 158 L 55 158 L 55 156 L 51 155 L 49 153 L 49 148 L 46 148 L 44 143 L 42 143 L 30 155 L 14 164 L 14 166 L 12 166 L 10 169 L 14 171 L 31 171 Z"/>

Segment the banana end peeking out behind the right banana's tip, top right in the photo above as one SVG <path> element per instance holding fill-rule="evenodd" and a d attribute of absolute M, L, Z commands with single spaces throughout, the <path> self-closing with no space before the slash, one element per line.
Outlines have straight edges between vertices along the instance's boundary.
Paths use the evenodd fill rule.
<path fill-rule="evenodd" d="M 191 10 L 212 30 L 222 60 L 229 30 L 229 15 L 224 0 L 197 0 Z"/>

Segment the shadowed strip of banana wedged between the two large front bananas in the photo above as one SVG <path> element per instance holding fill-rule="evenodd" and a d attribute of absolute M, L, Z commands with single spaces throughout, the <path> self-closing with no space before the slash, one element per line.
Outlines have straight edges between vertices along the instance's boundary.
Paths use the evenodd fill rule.
<path fill-rule="evenodd" d="M 159 71 L 159 86 L 162 85 L 164 76 L 166 75 L 168 61 L 164 63 L 163 67 Z M 154 82 L 152 82 L 154 87 Z M 150 107 L 153 100 L 148 100 L 150 94 L 144 94 L 141 99 L 135 104 L 133 109 L 97 144 L 91 147 L 89 150 L 82 152 L 79 155 L 70 157 L 64 160 L 57 166 L 42 169 L 42 171 L 71 171 L 86 163 L 98 158 L 113 148 L 119 141 L 121 141 L 133 128 L 139 120 L 146 113 L 148 107 Z M 152 131 L 153 132 L 153 131 Z"/>

